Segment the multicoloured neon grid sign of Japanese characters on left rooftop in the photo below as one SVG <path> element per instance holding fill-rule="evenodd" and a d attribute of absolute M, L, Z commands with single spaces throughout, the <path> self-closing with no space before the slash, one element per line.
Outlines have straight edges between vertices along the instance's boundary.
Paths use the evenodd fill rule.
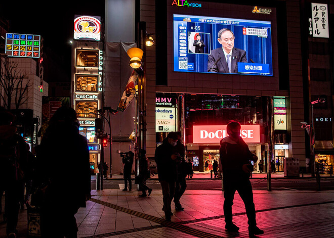
<path fill-rule="evenodd" d="M 39 58 L 40 35 L 6 33 L 6 55 Z"/>

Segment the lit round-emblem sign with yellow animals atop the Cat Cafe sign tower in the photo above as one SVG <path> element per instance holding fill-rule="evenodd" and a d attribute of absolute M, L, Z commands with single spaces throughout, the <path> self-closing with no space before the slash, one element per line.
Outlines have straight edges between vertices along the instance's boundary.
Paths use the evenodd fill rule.
<path fill-rule="evenodd" d="M 92 16 L 75 16 L 74 39 L 100 40 L 101 18 Z"/>

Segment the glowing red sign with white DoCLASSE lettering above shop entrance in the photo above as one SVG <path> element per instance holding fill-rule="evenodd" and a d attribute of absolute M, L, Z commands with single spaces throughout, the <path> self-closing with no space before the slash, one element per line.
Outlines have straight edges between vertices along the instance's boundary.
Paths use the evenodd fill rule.
<path fill-rule="evenodd" d="M 193 126 L 193 143 L 219 143 L 228 136 L 227 125 Z M 246 143 L 260 142 L 260 125 L 241 125 L 241 138 Z"/>

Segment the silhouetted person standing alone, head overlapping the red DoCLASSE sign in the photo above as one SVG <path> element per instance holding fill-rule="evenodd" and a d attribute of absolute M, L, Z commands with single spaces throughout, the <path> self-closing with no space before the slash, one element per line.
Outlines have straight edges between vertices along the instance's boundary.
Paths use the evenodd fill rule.
<path fill-rule="evenodd" d="M 232 222 L 232 205 L 234 194 L 238 191 L 246 209 L 248 218 L 249 235 L 263 234 L 263 230 L 257 227 L 253 191 L 249 176 L 252 166 L 249 161 L 257 162 L 258 157 L 252 154 L 247 144 L 240 136 L 241 125 L 239 122 L 231 121 L 227 125 L 229 136 L 220 141 L 220 159 L 223 169 L 224 185 L 224 215 L 225 228 L 228 231 L 238 232 L 237 227 Z"/>

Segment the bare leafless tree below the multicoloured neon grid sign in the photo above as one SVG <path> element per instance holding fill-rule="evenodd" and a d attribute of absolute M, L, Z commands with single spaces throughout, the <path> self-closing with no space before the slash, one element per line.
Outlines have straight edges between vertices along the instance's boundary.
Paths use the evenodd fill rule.
<path fill-rule="evenodd" d="M 17 70 L 18 63 L 10 61 L 9 58 L 1 58 L 0 88 L 4 93 L 0 93 L 4 106 L 8 110 L 14 101 L 15 109 L 28 101 L 27 91 L 31 86 L 30 81 L 25 80 L 26 74 Z"/>

